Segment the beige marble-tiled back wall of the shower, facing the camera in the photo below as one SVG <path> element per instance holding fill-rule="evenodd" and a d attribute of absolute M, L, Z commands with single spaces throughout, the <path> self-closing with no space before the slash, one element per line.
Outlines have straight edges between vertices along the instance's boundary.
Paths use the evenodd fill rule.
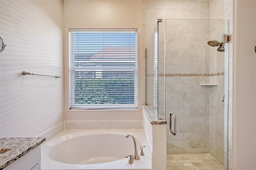
<path fill-rule="evenodd" d="M 142 3 L 144 49 L 157 18 L 210 17 L 209 0 L 144 0 Z M 172 41 L 166 43 L 166 74 L 210 73 L 210 47 L 207 45 L 210 23 L 185 20 L 183 23 L 167 24 L 167 30 L 167 37 Z M 160 68 L 163 68 L 163 61 L 160 58 Z M 160 77 L 160 83 L 163 80 L 164 76 Z M 166 77 L 166 113 L 176 114 L 178 129 L 176 136 L 172 136 L 168 130 L 167 153 L 209 153 L 210 88 L 200 86 L 200 83 L 210 83 L 210 77 Z M 159 92 L 162 99 L 164 88 L 160 87 Z M 161 103 L 159 107 L 163 108 Z"/>

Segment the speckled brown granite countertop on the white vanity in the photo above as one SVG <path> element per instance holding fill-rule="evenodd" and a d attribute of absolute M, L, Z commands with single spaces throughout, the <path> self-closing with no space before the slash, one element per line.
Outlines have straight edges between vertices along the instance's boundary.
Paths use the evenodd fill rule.
<path fill-rule="evenodd" d="M 46 140 L 44 137 L 0 138 L 0 170 Z"/>

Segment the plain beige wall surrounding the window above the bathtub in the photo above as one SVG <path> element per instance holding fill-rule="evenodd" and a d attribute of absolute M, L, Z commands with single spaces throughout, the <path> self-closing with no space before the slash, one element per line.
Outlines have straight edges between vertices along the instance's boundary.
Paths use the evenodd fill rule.
<path fill-rule="evenodd" d="M 64 0 L 65 120 L 142 119 L 142 2 L 140 0 Z M 68 104 L 68 28 L 138 28 L 138 110 L 70 111 Z M 106 116 L 108 114 L 108 116 Z"/>

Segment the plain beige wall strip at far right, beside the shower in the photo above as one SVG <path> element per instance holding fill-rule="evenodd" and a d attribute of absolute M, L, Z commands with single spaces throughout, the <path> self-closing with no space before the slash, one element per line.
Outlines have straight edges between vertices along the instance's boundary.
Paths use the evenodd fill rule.
<path fill-rule="evenodd" d="M 256 167 L 256 1 L 234 1 L 233 170 Z"/>

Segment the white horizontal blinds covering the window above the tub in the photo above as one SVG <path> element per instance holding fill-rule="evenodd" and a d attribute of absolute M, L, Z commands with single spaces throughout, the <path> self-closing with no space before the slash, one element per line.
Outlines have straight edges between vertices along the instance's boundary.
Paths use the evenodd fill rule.
<path fill-rule="evenodd" d="M 136 29 L 70 29 L 70 109 L 138 107 Z"/>

